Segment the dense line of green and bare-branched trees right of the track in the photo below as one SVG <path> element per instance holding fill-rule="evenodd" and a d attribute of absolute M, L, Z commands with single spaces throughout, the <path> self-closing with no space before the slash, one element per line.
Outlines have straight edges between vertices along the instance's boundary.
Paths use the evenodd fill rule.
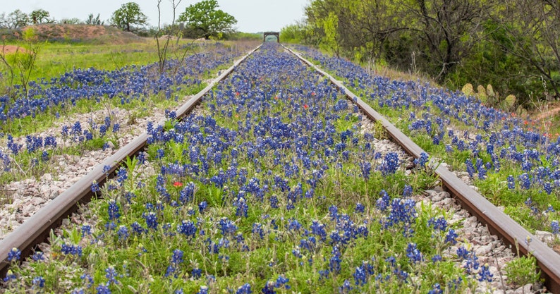
<path fill-rule="evenodd" d="M 525 107 L 560 97 L 557 0 L 312 0 L 282 39 L 454 89 L 491 84 L 503 93 L 493 104 L 507 94 Z"/>

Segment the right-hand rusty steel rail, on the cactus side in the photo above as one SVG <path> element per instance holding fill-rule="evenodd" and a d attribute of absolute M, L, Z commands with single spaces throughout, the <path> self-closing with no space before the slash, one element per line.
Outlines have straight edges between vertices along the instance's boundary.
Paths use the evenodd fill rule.
<path fill-rule="evenodd" d="M 282 47 L 284 47 L 284 45 L 282 45 Z M 342 82 L 333 78 L 329 75 L 329 73 L 322 71 L 320 68 L 315 66 L 315 64 L 303 58 L 303 56 L 298 54 L 296 51 L 293 51 L 288 47 L 284 47 L 284 49 L 296 55 L 298 59 L 307 63 L 308 66 L 314 68 L 315 71 L 324 77 L 329 78 L 329 80 L 339 87 L 339 89 L 346 94 L 348 99 L 358 105 L 358 107 L 364 111 L 369 118 L 373 121 L 381 123 L 386 130 L 386 133 L 389 133 L 394 142 L 401 145 L 408 154 L 415 158 L 419 158 L 420 154 L 425 152 L 422 148 L 420 148 L 420 146 L 413 142 L 413 140 L 403 134 L 401 130 L 396 128 L 392 123 L 384 118 L 384 116 L 372 109 L 372 107 L 363 102 L 360 97 L 348 90 Z M 446 167 L 437 166 L 435 173 L 442 181 L 444 189 L 450 192 L 459 204 L 461 204 L 461 207 L 468 210 L 470 214 L 476 216 L 478 221 L 487 225 L 491 233 L 498 235 L 499 238 L 504 240 L 504 243 L 506 244 L 518 246 L 519 251 L 523 255 L 528 255 L 528 252 L 530 252 L 530 254 L 537 259 L 537 266 L 541 270 L 541 276 L 545 280 L 547 290 L 552 293 L 560 293 L 560 255 L 558 253 L 554 252 L 554 250 L 546 244 L 535 238 L 535 236 L 529 233 L 529 231 L 523 228 L 523 226 L 516 221 L 513 221 L 510 216 L 498 209 L 484 196 L 480 195 L 479 192 L 470 188 L 469 185 L 449 171 L 449 169 L 446 169 Z"/>

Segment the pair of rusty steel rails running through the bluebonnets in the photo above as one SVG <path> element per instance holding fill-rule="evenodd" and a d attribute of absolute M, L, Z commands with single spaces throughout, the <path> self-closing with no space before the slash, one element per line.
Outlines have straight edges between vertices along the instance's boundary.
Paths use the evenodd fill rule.
<path fill-rule="evenodd" d="M 257 47 L 250 51 L 239 61 L 233 64 L 228 70 L 221 73 L 221 75 L 211 82 L 204 90 L 196 94 L 194 97 L 188 100 L 183 106 L 177 109 L 176 114 L 178 118 L 185 117 L 202 99 L 202 97 L 209 92 L 209 90 L 216 85 L 217 82 L 226 78 L 241 62 L 243 62 L 252 52 L 256 51 L 260 47 Z M 408 152 L 411 156 L 419 158 L 420 154 L 424 152 L 418 145 L 416 145 L 410 138 L 406 137 L 400 130 L 398 130 L 394 125 L 389 123 L 383 116 L 381 116 L 377 111 L 372 109 L 369 105 L 365 104 L 359 97 L 356 97 L 350 90 L 342 85 L 341 82 L 334 79 L 328 73 L 317 68 L 310 61 L 303 59 L 300 54 L 284 47 L 287 51 L 296 55 L 298 59 L 307 63 L 308 66 L 315 68 L 321 75 L 329 78 L 336 87 L 346 94 L 348 99 L 355 103 L 369 118 L 374 121 L 378 121 L 383 125 L 392 140 L 401 145 L 403 149 Z M 49 232 L 51 228 L 59 226 L 61 221 L 67 216 L 72 214 L 78 209 L 79 203 L 87 202 L 93 196 L 91 191 L 91 184 L 95 181 L 102 185 L 107 178 L 114 176 L 114 172 L 119 166 L 123 165 L 127 157 L 132 157 L 137 154 L 142 149 L 145 148 L 147 144 L 147 133 L 144 133 L 137 137 L 133 142 L 130 142 L 125 147 L 121 148 L 113 156 L 109 157 L 102 164 L 99 164 L 93 171 L 91 171 L 87 176 L 82 178 L 75 183 L 71 188 L 63 192 L 55 200 L 47 204 L 46 207 L 39 210 L 37 214 L 32 216 L 28 221 L 25 221 L 21 226 L 16 228 L 15 231 L 8 234 L 4 240 L 0 241 L 0 276 L 5 276 L 8 271 L 8 253 L 13 247 L 21 250 L 22 257 L 29 256 L 32 254 L 33 249 L 37 244 L 44 242 L 49 237 Z M 104 170 L 104 166 L 111 166 L 109 170 L 109 177 L 107 177 L 107 171 Z M 482 223 L 485 223 L 489 230 L 499 235 L 499 237 L 504 240 L 505 243 L 511 245 L 518 245 L 520 252 L 523 255 L 528 254 L 528 245 L 525 243 L 527 238 L 530 238 L 532 242 L 530 243 L 531 254 L 537 259 L 537 265 L 542 271 L 542 278 L 545 279 L 545 285 L 547 289 L 552 293 L 560 293 L 560 255 L 550 249 L 547 245 L 540 242 L 535 236 L 526 231 L 521 225 L 513 221 L 509 216 L 497 209 L 493 204 L 485 199 L 478 192 L 466 185 L 463 180 L 459 179 L 454 173 L 451 173 L 448 169 L 443 166 L 438 166 L 435 173 L 439 176 L 444 189 L 449 191 L 456 200 L 467 209 L 471 214 L 477 216 L 477 219 Z"/>

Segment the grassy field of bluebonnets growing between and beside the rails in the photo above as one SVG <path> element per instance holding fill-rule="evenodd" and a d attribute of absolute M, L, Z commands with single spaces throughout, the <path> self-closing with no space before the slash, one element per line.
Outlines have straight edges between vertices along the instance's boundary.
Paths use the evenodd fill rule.
<path fill-rule="evenodd" d="M 173 111 L 179 96 L 200 90 L 250 46 L 182 42 L 176 52 L 192 54 L 164 74 L 153 42 L 126 47 L 134 49 L 45 44 L 34 73 L 44 80 L 30 84 L 30 97 L 3 101 L 3 183 L 27 176 L 16 166 L 39 178 L 51 157 L 76 152 L 53 140 L 101 149 L 111 130 L 119 136 L 110 116 L 78 128 L 68 121 L 75 114 L 159 108 L 167 118 L 147 123 L 150 145 L 114 180 L 92 183 L 100 197 L 82 216 L 14 267 L 6 293 L 463 293 L 492 282 L 496 269 L 457 234 L 465 220 L 422 200 L 437 185 L 427 158 L 413 162 L 391 146 L 336 87 L 279 47 L 265 44 L 184 121 Z M 560 142 L 458 93 L 298 50 L 369 97 L 432 159 L 530 230 L 545 223 L 558 242 L 560 203 L 550 196 L 559 190 L 558 154 L 547 147 Z M 62 123 L 54 139 L 37 136 Z M 531 166 L 517 166 L 517 154 Z"/>

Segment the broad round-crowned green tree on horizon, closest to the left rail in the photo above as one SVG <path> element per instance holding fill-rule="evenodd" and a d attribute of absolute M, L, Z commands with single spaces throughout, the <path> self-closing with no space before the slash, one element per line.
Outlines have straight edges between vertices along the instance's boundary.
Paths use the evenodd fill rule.
<path fill-rule="evenodd" d="M 188 6 L 178 18 L 184 22 L 188 37 L 219 37 L 224 33 L 235 32 L 236 18 L 218 8 L 217 0 L 204 0 Z"/>

